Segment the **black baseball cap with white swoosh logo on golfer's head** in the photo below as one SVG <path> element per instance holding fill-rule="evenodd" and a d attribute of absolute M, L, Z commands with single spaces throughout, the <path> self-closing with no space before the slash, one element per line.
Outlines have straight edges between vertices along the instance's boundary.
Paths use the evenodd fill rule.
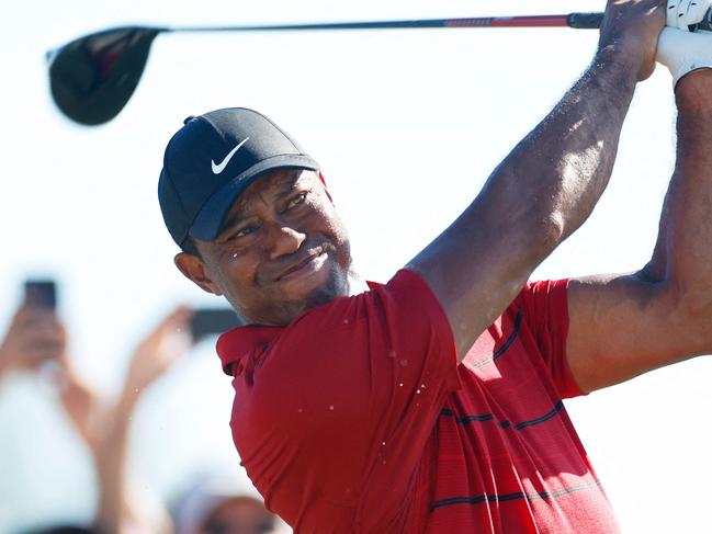
<path fill-rule="evenodd" d="M 246 107 L 190 116 L 166 147 L 158 180 L 163 220 L 179 246 L 191 236 L 213 241 L 237 197 L 281 168 L 318 163 L 268 117 Z"/>

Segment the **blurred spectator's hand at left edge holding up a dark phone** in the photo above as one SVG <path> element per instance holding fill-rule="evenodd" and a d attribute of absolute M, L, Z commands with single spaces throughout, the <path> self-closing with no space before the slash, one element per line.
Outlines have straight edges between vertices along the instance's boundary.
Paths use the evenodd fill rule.
<path fill-rule="evenodd" d="M 0 372 L 36 371 L 47 361 L 66 357 L 67 336 L 57 315 L 23 306 L 0 343 Z"/>

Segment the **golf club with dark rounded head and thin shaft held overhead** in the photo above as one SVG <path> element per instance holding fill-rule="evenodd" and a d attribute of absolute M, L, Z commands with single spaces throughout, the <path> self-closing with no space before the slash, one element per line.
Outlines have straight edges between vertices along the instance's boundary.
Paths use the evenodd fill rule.
<path fill-rule="evenodd" d="M 712 30 L 712 11 L 699 29 Z M 79 37 L 47 54 L 52 96 L 59 110 L 83 125 L 114 118 L 131 99 L 146 67 L 150 45 L 160 33 L 281 32 L 335 30 L 573 27 L 598 29 L 603 13 L 487 16 L 400 21 L 332 22 L 236 26 L 125 26 Z"/>

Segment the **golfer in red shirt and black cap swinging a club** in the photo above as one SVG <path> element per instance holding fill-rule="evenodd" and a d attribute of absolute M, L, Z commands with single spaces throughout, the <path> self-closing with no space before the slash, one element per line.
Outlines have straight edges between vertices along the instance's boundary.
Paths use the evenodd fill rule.
<path fill-rule="evenodd" d="M 269 120 L 219 110 L 171 139 L 176 264 L 249 323 L 217 346 L 233 436 L 296 532 L 618 532 L 561 399 L 712 350 L 712 37 L 687 32 L 697 2 L 666 8 L 610 1 L 590 68 L 386 285 L 354 272 L 318 164 Z M 527 283 L 604 190 L 666 11 L 679 141 L 651 262 Z"/>

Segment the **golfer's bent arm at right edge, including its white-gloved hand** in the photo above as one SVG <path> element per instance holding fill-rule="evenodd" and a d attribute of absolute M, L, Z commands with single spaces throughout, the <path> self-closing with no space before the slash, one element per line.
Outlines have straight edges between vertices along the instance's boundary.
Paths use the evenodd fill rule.
<path fill-rule="evenodd" d="M 568 362 L 588 391 L 712 353 L 712 35 L 666 29 L 662 59 L 704 70 L 676 87 L 677 161 L 651 262 L 640 272 L 573 281 Z"/>

